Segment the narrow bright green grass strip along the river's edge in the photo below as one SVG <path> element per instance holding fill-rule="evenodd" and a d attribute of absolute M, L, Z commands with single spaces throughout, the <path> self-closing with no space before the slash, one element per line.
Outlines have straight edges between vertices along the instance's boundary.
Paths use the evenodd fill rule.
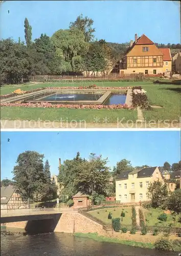
<path fill-rule="evenodd" d="M 97 233 L 74 233 L 74 236 L 79 238 L 89 238 L 98 242 L 117 243 L 117 244 L 124 244 L 124 245 L 136 246 L 141 248 L 149 248 L 149 249 L 154 248 L 154 245 L 152 243 L 143 243 L 143 242 L 119 240 L 116 238 L 107 238 L 107 237 L 99 236 Z"/>

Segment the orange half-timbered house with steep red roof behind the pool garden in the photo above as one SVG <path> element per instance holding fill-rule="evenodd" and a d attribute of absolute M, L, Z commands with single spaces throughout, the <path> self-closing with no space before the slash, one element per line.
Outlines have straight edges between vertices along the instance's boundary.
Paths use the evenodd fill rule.
<path fill-rule="evenodd" d="M 130 47 L 120 61 L 120 74 L 143 73 L 144 75 L 171 72 L 172 59 L 169 48 L 157 48 L 146 35 L 130 41 Z M 166 71 L 168 70 L 168 71 Z"/>

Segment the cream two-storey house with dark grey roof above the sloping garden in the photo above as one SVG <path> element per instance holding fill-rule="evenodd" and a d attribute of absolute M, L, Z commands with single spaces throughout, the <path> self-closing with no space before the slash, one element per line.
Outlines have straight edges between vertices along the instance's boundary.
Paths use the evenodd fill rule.
<path fill-rule="evenodd" d="M 164 183 L 163 176 L 157 166 L 125 170 L 116 180 L 116 201 L 121 203 L 148 201 L 147 189 L 149 184 L 158 180 Z M 174 182 L 167 181 L 167 184 L 171 191 L 175 190 L 176 184 Z"/>

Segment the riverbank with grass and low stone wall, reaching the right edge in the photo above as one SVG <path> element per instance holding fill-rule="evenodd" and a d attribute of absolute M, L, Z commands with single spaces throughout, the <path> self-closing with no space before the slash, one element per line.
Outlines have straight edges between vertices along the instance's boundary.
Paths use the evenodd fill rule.
<path fill-rule="evenodd" d="M 110 237 L 104 237 L 104 236 L 99 236 L 98 233 L 74 233 L 75 237 L 79 238 L 89 238 L 93 239 L 97 242 L 108 242 L 108 243 L 117 243 L 117 244 L 123 244 L 123 245 L 129 245 L 129 246 L 134 246 L 134 247 L 140 247 L 140 248 L 148 248 L 148 249 L 154 249 L 154 243 L 156 240 L 159 240 L 160 238 L 163 237 L 162 235 L 158 236 L 152 236 L 151 234 L 146 234 L 145 236 L 141 236 L 140 234 L 131 234 L 131 239 L 129 238 L 128 233 L 118 233 L 118 237 L 110 238 Z M 144 242 L 142 241 L 135 241 L 139 239 L 139 236 L 143 238 Z M 146 242 L 150 241 L 150 236 L 152 237 L 152 242 Z M 142 239 L 141 238 L 141 239 Z M 140 239 L 140 240 L 141 240 Z M 170 236 L 169 240 L 174 242 L 175 240 L 178 240 L 178 237 L 176 236 Z M 173 243 L 174 251 L 179 252 L 180 251 L 180 245 L 178 243 Z"/>

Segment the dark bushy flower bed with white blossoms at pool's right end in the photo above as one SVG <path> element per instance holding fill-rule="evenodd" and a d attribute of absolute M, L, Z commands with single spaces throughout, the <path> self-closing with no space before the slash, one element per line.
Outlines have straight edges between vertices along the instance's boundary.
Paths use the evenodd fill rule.
<path fill-rule="evenodd" d="M 146 95 L 146 91 L 144 89 L 142 89 L 141 86 L 132 88 L 132 106 L 134 108 L 137 106 L 140 106 L 141 109 L 152 110 L 152 108 L 148 102 L 148 97 Z"/>

